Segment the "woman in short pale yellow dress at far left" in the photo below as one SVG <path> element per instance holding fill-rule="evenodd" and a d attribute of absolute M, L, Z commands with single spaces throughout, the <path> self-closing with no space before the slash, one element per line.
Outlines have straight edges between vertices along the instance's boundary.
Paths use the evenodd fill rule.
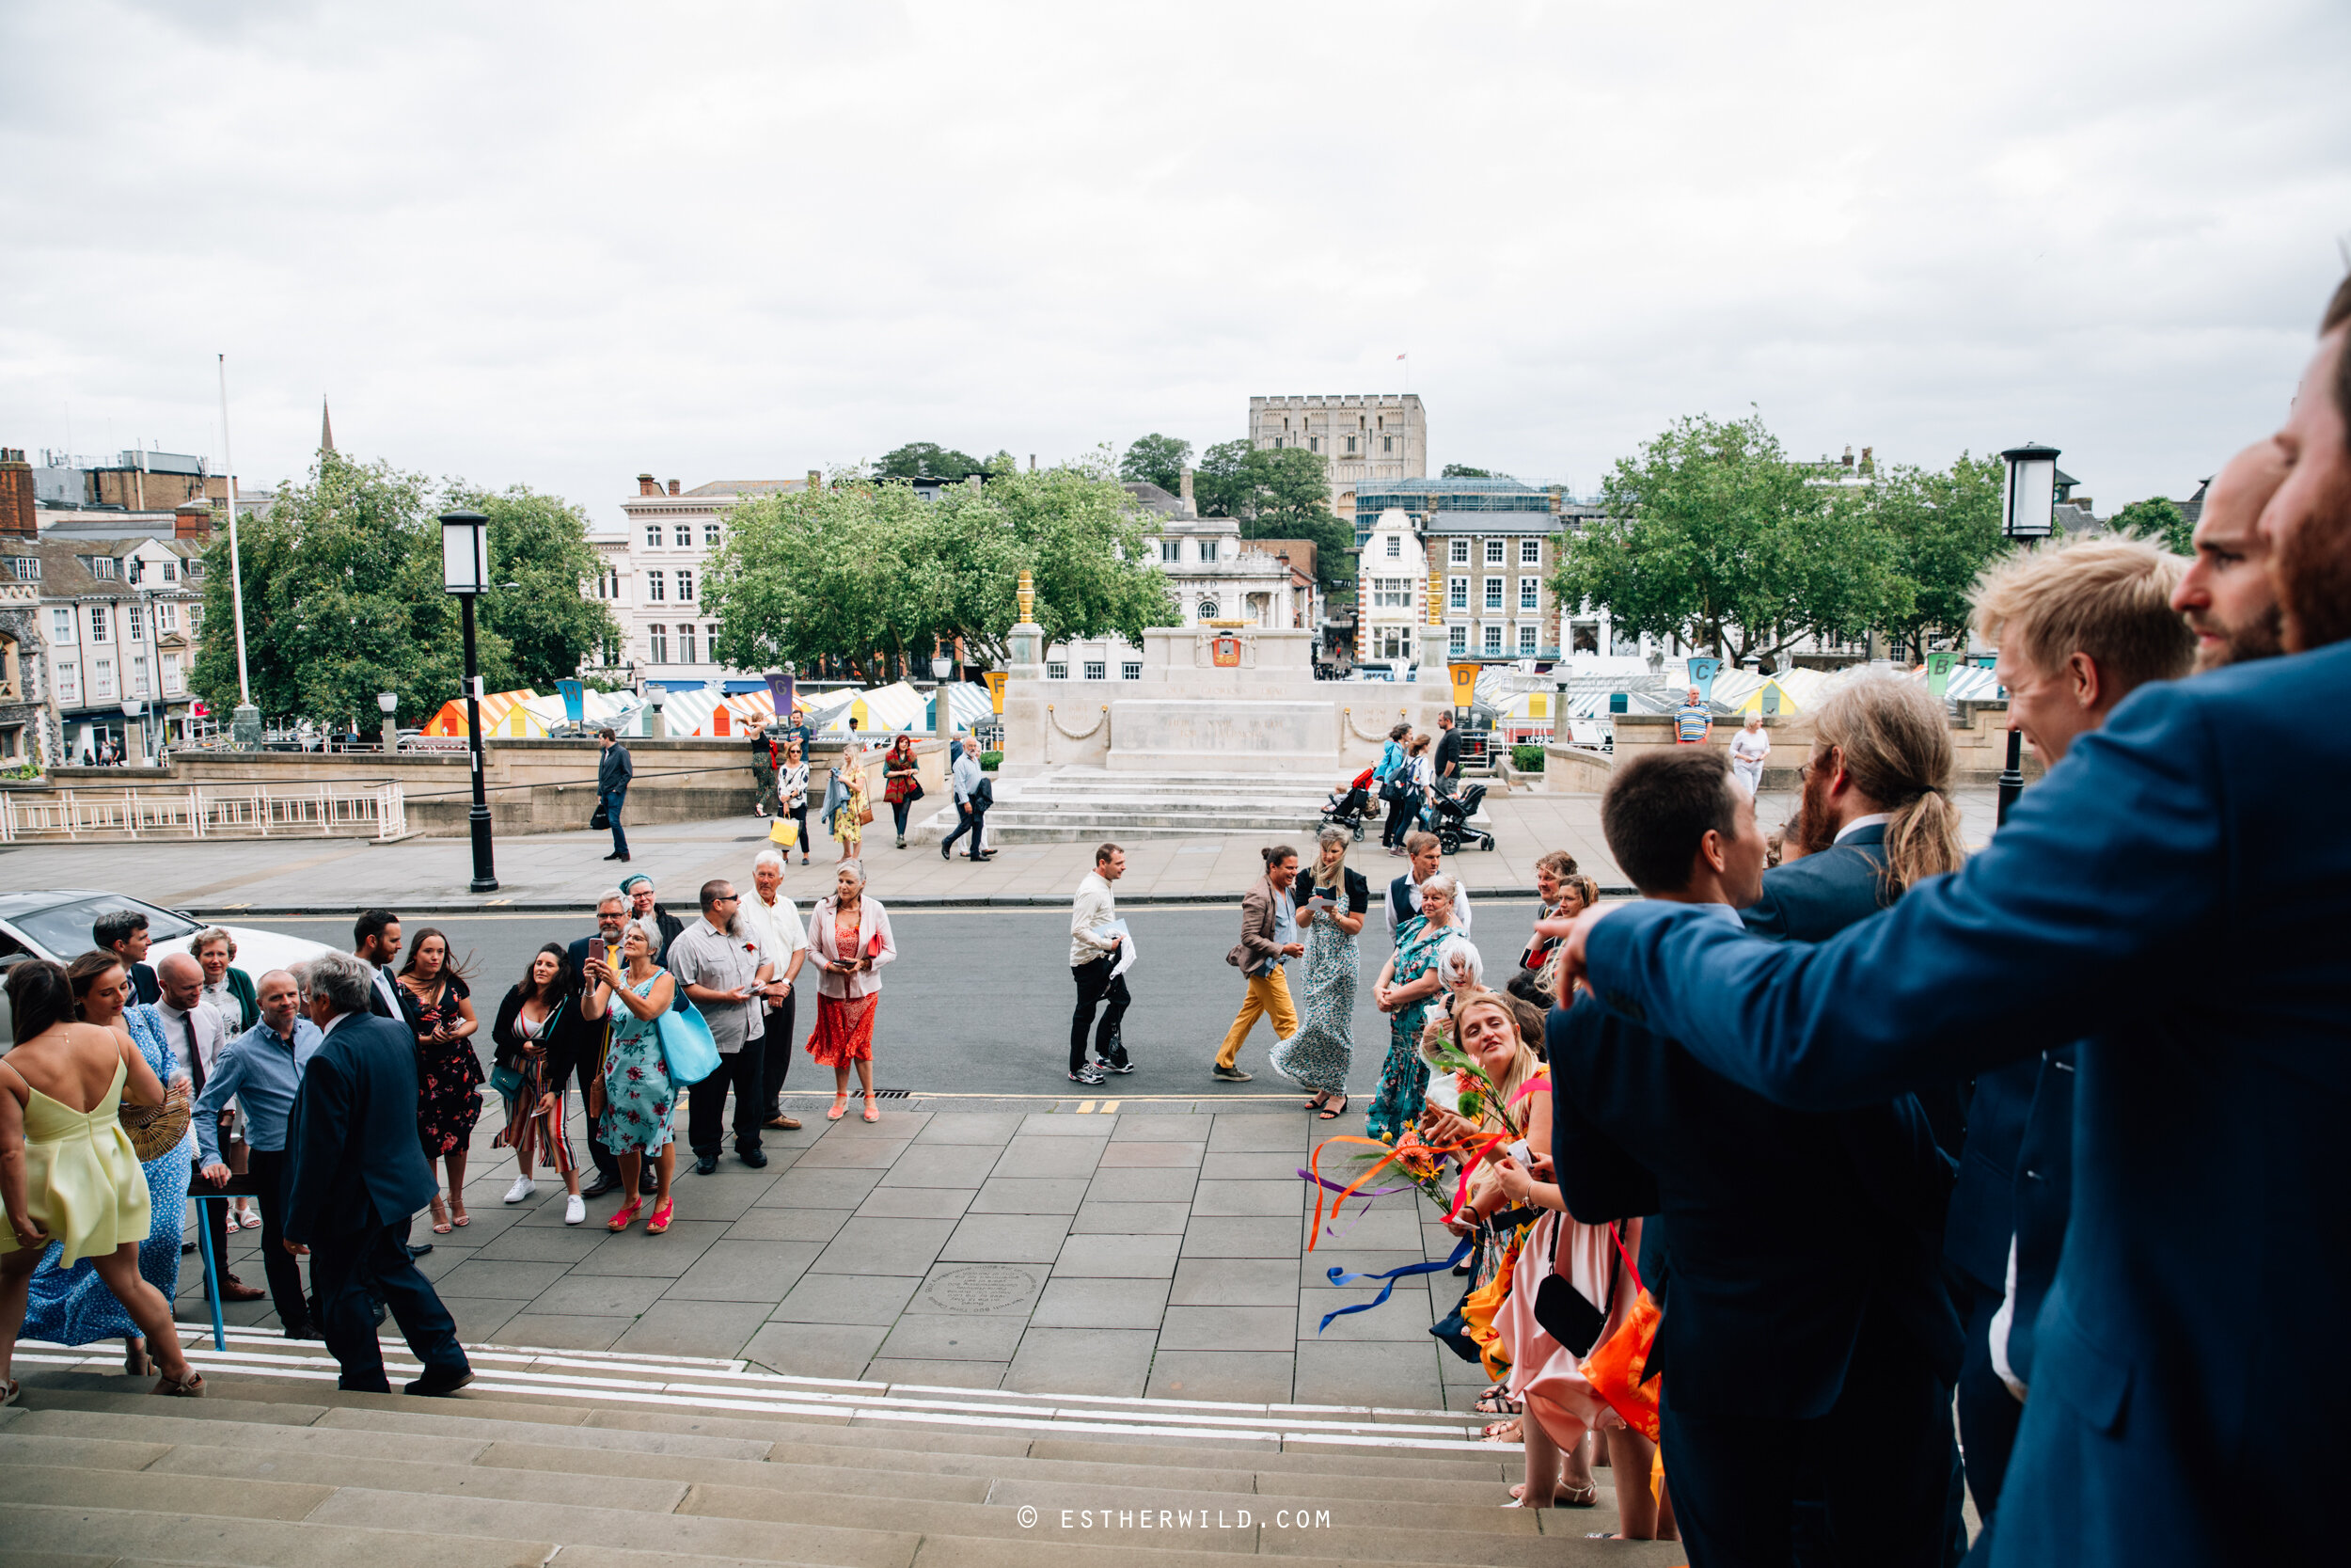
<path fill-rule="evenodd" d="M 139 1244 L 155 1222 L 146 1171 L 118 1112 L 162 1105 L 162 1081 L 129 1039 L 73 1023 L 66 971 L 24 959 L 7 973 L 16 1048 L 0 1058 L 0 1403 L 9 1378 L 26 1286 L 49 1241 L 61 1267 L 89 1258 L 99 1279 L 146 1333 L 162 1368 L 158 1394 L 202 1394 L 205 1380 L 181 1354 L 172 1305 L 139 1274 Z"/>

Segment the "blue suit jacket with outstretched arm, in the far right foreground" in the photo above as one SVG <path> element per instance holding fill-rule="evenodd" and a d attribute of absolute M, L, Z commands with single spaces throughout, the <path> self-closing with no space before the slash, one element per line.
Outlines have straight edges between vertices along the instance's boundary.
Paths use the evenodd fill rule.
<path fill-rule="evenodd" d="M 1784 1105 L 2083 1041 L 1996 1566 L 2339 1549 L 2346 686 L 2351 644 L 2142 686 L 1961 872 L 1813 947 L 1676 905 L 1589 936 L 1608 1006 Z"/>

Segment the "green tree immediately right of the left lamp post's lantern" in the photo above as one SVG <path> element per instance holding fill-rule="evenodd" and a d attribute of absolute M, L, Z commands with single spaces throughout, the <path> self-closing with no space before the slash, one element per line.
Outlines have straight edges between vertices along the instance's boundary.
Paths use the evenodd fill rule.
<path fill-rule="evenodd" d="M 489 517 L 489 578 L 496 588 L 482 595 L 477 618 L 508 646 L 498 689 L 552 691 L 583 663 L 602 663 L 621 625 L 604 604 L 581 592 L 581 583 L 602 569 L 588 543 L 588 512 L 522 484 L 505 491 L 451 484 L 444 501 L 444 510 L 461 505 Z"/>

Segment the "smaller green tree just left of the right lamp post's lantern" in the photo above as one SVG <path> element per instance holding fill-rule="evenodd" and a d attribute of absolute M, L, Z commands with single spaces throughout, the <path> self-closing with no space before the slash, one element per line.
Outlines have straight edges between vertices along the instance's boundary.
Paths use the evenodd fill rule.
<path fill-rule="evenodd" d="M 1923 661 L 1930 635 L 1965 630 L 1975 578 L 2008 548 L 2001 538 L 2003 480 L 1998 458 L 1963 451 L 1947 473 L 1886 465 L 1864 491 L 1864 503 L 1895 541 L 1907 590 L 1878 616 L 1897 658 L 1907 651 L 1911 661 Z"/>

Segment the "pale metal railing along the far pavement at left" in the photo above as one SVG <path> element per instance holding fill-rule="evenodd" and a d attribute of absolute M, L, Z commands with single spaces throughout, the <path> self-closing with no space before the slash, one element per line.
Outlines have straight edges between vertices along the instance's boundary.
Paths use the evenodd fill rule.
<path fill-rule="evenodd" d="M 0 844 L 28 839 L 369 837 L 409 830 L 397 783 L 0 792 Z"/>

